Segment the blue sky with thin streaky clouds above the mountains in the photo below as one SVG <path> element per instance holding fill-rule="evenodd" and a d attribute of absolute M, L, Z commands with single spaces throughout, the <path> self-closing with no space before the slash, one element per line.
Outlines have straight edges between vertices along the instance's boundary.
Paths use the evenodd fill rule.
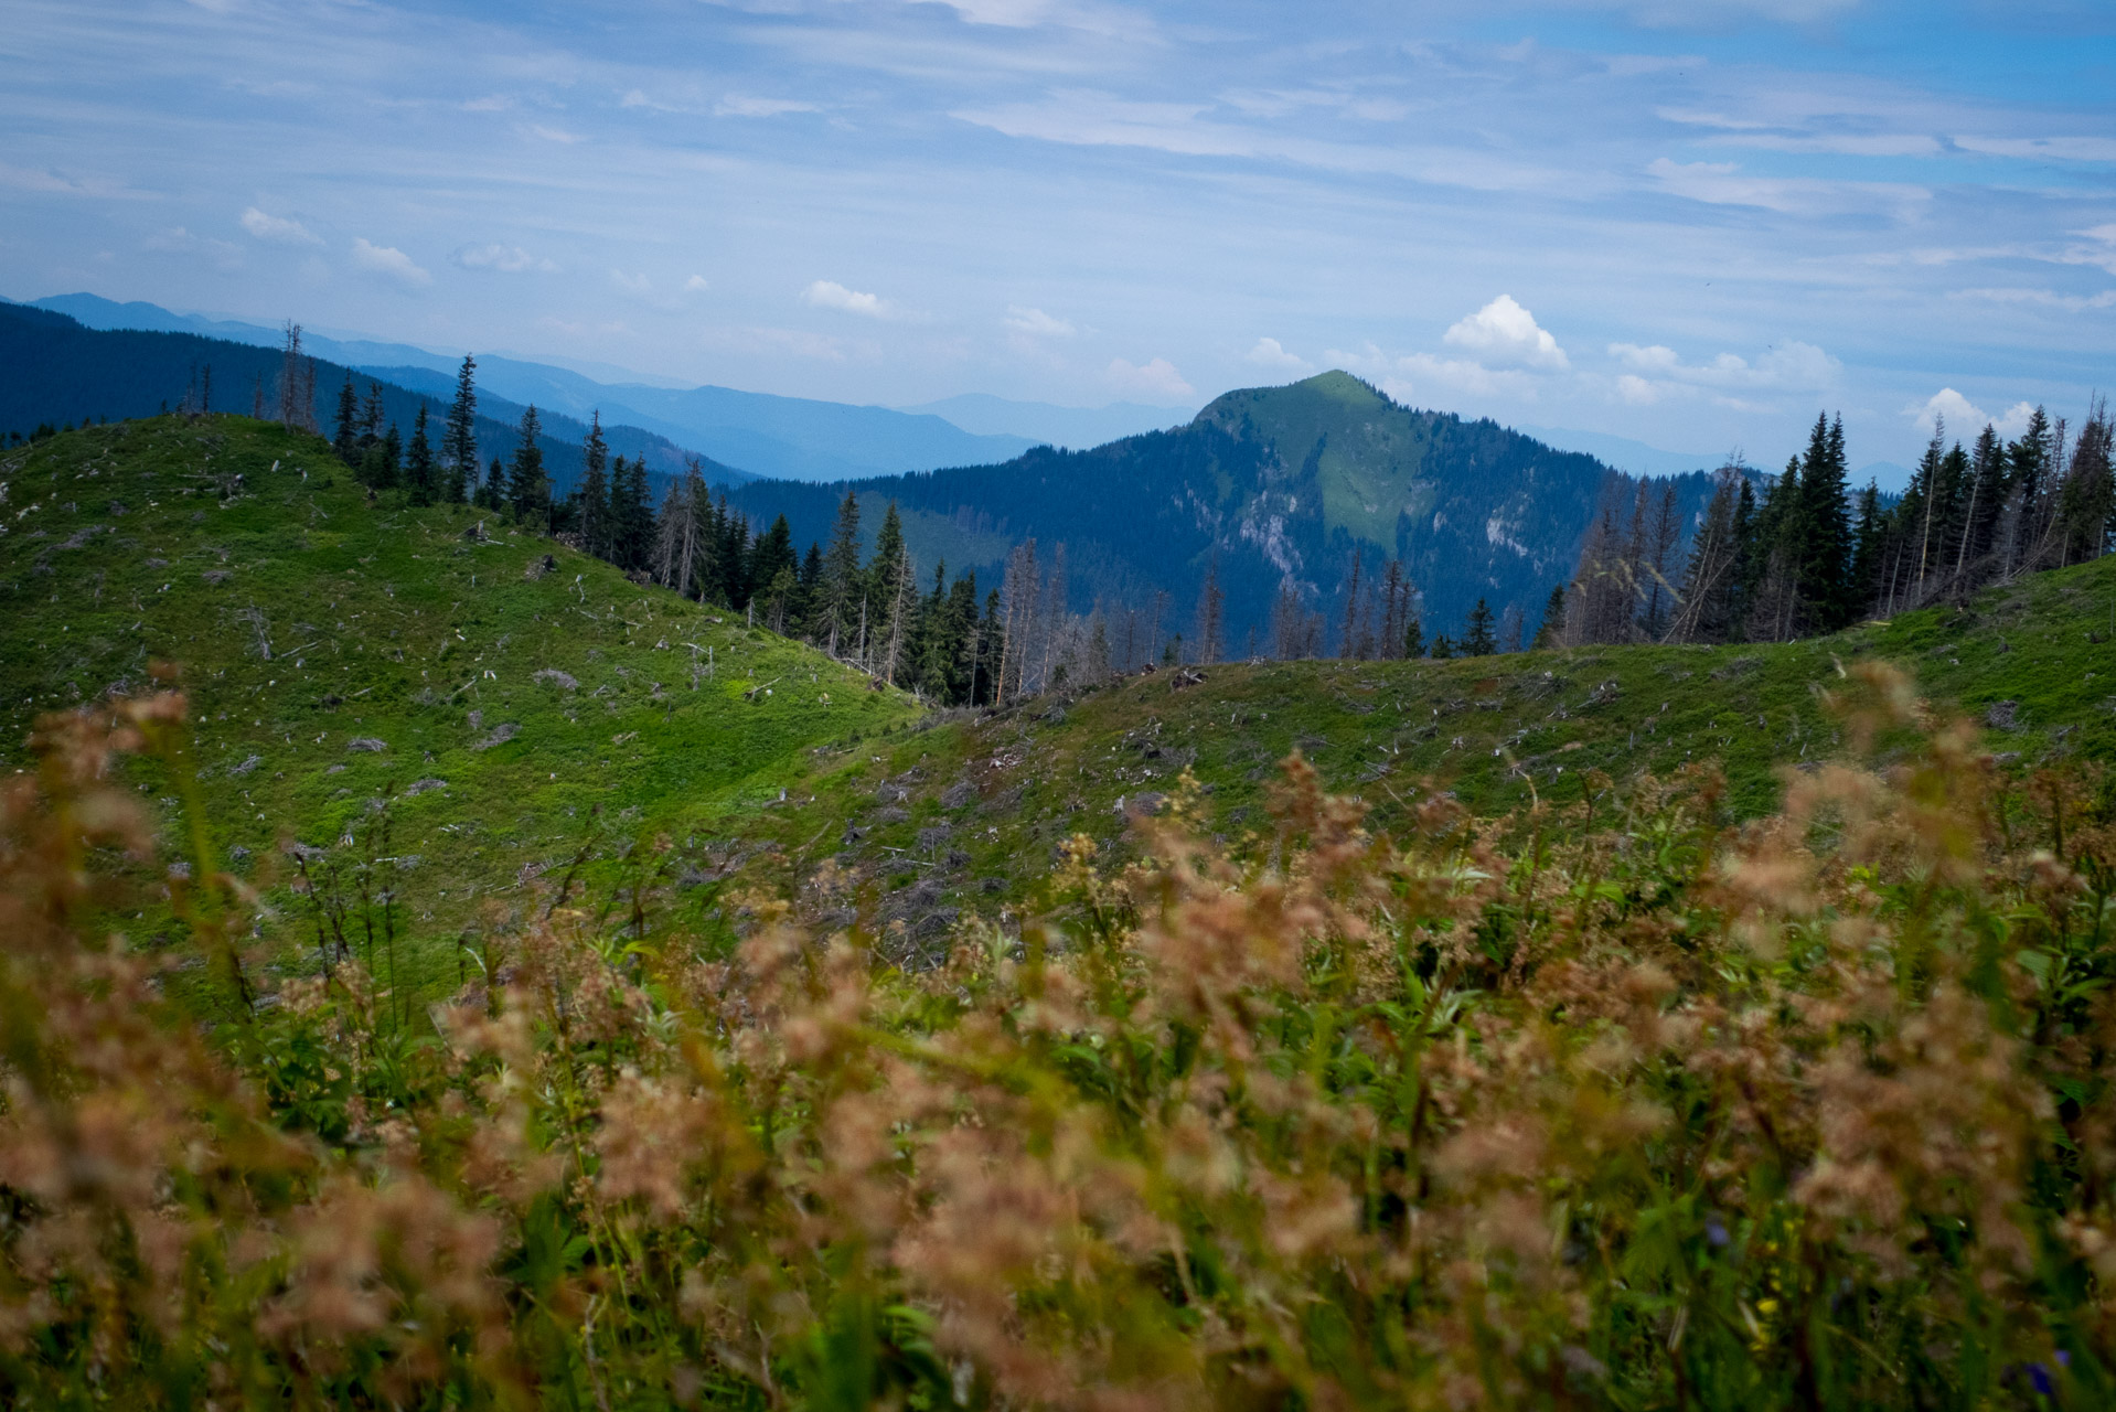
<path fill-rule="evenodd" d="M 8 0 L 0 294 L 1854 466 L 2116 373 L 2105 0 Z"/>

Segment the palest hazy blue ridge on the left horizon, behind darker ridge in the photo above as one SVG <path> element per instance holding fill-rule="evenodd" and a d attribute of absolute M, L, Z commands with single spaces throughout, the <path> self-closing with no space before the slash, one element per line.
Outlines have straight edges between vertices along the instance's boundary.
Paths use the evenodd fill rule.
<path fill-rule="evenodd" d="M 34 307 L 55 309 L 104 330 L 195 332 L 258 347 L 277 347 L 281 337 L 277 328 L 262 324 L 171 313 L 148 303 L 121 305 L 95 294 L 59 294 L 34 301 Z M 413 377 L 411 370 L 453 377 L 463 360 L 461 354 L 438 354 L 411 343 L 320 332 L 305 332 L 305 345 L 317 358 L 436 396 L 438 385 L 432 377 Z M 849 481 L 937 466 L 978 466 L 1020 455 L 1039 440 L 973 434 L 944 417 L 887 406 L 781 398 L 711 385 L 607 383 L 571 368 L 501 354 L 478 354 L 478 387 L 510 402 L 535 402 L 537 409 L 565 413 L 578 421 L 601 411 L 605 423 L 637 426 L 724 466 L 789 481 Z"/>

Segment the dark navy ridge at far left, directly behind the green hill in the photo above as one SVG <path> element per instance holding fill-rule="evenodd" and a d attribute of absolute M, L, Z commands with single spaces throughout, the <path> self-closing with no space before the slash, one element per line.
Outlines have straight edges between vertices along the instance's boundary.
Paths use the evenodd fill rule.
<path fill-rule="evenodd" d="M 197 383 L 201 370 L 212 368 L 214 406 L 218 411 L 248 413 L 262 396 L 264 404 L 277 406 L 281 356 L 277 347 L 260 347 L 233 339 L 209 339 L 197 332 L 163 332 L 112 328 L 95 330 L 66 313 L 34 305 L 0 303 L 0 432 L 30 432 L 42 421 L 53 426 L 121 417 L 146 417 L 163 409 L 182 406 L 186 392 Z M 315 413 L 317 423 L 328 430 L 336 411 L 339 387 L 345 383 L 345 364 L 328 358 L 315 360 Z M 421 370 L 421 377 L 438 377 Z M 370 377 L 353 370 L 355 387 L 366 394 Z M 430 436 L 440 440 L 440 421 L 449 413 L 455 396 L 453 379 L 436 390 L 432 381 L 421 387 L 404 387 L 387 379 L 383 387 L 383 417 L 411 436 L 419 404 L 427 406 Z M 523 404 L 478 392 L 478 459 L 510 457 L 518 442 Z M 580 442 L 588 428 L 563 413 L 544 415 L 544 464 L 559 491 L 567 491 L 580 476 Z M 692 455 L 686 447 L 654 432 L 603 423 L 603 434 L 616 455 L 645 457 L 647 470 L 658 476 L 677 474 Z M 713 481 L 738 485 L 749 481 L 749 472 L 717 461 L 707 464 Z"/>

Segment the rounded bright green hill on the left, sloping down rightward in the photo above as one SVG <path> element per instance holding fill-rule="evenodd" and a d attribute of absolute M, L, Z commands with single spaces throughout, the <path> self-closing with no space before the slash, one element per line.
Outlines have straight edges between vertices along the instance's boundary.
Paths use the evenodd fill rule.
<path fill-rule="evenodd" d="M 614 859 L 777 800 L 813 745 L 916 713 L 478 512 L 368 502 L 322 440 L 271 423 L 154 417 L 4 453 L 0 523 L 0 768 L 25 764 L 40 711 L 180 663 L 220 857 L 284 881 L 284 836 L 364 855 L 394 798 L 372 845 L 451 982 L 446 938 L 478 904 L 518 904 L 590 834 Z M 140 768 L 174 819 L 171 779 Z M 677 834 L 662 862 L 711 866 L 707 840 Z M 267 898 L 286 940 L 313 929 L 292 893 Z"/>

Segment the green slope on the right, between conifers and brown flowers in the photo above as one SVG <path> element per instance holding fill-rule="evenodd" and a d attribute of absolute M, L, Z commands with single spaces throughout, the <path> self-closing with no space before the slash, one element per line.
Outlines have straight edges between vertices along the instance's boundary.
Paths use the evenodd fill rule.
<path fill-rule="evenodd" d="M 1295 749 L 1327 788 L 1365 798 L 1378 828 L 1435 792 L 1490 815 L 1532 794 L 1608 800 L 1612 781 L 1703 762 L 1725 771 L 1731 817 L 1756 817 L 1777 807 L 1786 768 L 1839 754 L 1818 692 L 1860 658 L 1900 663 L 1936 707 L 1985 720 L 2002 768 L 2116 760 L 2112 641 L 2116 557 L 1799 644 L 1229 663 L 1196 684 L 1162 671 L 813 756 L 794 785 L 802 807 L 755 832 L 787 855 L 781 885 L 832 853 L 870 923 L 937 938 L 925 919 L 1030 895 L 1075 832 L 1130 847 L 1126 815 L 1160 809 L 1185 768 L 1223 838 L 1261 828 Z"/>

